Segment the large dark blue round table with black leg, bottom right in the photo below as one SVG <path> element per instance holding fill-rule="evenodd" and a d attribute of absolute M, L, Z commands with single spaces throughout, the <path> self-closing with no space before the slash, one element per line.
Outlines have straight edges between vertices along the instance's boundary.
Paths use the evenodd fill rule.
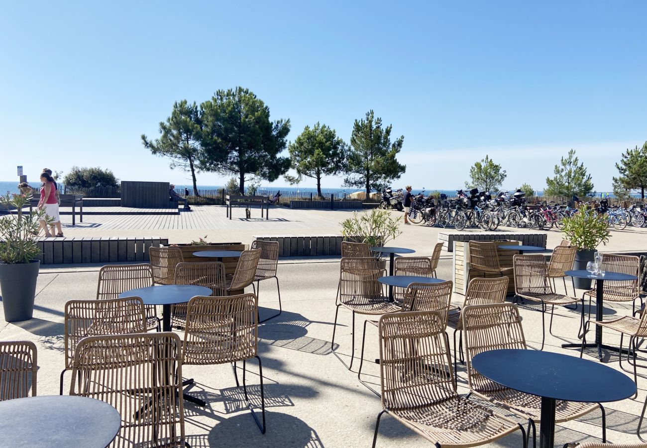
<path fill-rule="evenodd" d="M 554 445 L 556 400 L 608 403 L 636 392 L 635 383 L 622 372 L 561 353 L 490 350 L 476 355 L 472 368 L 495 383 L 542 398 L 542 448 Z"/>

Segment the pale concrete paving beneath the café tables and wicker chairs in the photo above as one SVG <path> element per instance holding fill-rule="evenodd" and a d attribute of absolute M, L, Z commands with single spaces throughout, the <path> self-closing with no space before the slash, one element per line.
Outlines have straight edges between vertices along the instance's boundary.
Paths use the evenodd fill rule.
<path fill-rule="evenodd" d="M 325 212 L 323 212 L 325 213 Z M 435 242 L 432 229 L 406 227 L 406 241 L 421 248 Z M 402 238 L 402 237 L 400 237 Z M 644 238 L 643 240 L 644 241 Z M 641 241 L 641 242 L 642 242 Z M 421 250 L 421 252 L 424 252 Z M 439 278 L 451 278 L 451 259 L 444 254 Z M 38 346 L 38 394 L 58 394 L 59 375 L 63 368 L 63 308 L 72 298 L 92 299 L 96 293 L 98 266 L 48 267 L 41 270 L 34 319 L 6 323 L 0 311 L 0 337 L 3 340 L 28 339 Z M 208 402 L 206 408 L 185 403 L 186 433 L 193 447 L 369 447 L 375 418 L 381 410 L 377 330 L 367 329 L 367 349 L 362 372 L 366 385 L 357 379 L 357 357 L 360 353 L 361 325 L 356 322 L 357 344 L 353 371 L 345 367 L 351 356 L 351 315 L 340 312 L 336 350 L 331 352 L 334 300 L 338 281 L 338 259 L 287 260 L 279 265 L 283 314 L 259 327 L 259 355 L 263 360 L 267 406 L 267 434 L 261 435 L 252 420 L 241 390 L 236 388 L 229 366 L 186 366 L 184 377 L 193 377 L 197 385 L 192 394 Z M 570 289 L 570 286 L 569 286 Z M 581 293 L 581 291 L 580 291 Z M 276 287 L 261 284 L 259 304 L 261 317 L 276 308 Z M 453 302 L 462 304 L 454 295 Z M 523 329 L 529 346 L 541 343 L 541 313 L 537 306 L 520 308 Z M 631 304 L 605 305 L 606 317 L 629 315 Z M 567 341 L 578 341 L 576 333 L 579 311 L 559 308 L 554 331 Z M 452 337 L 452 330 L 450 339 Z M 180 333 L 181 334 L 181 333 Z M 619 344 L 619 337 L 605 331 L 605 342 Z M 545 350 L 578 356 L 577 350 L 560 347 L 562 340 L 547 335 Z M 587 359 L 595 360 L 586 355 Z M 644 355 L 643 355 L 644 357 Z M 606 353 L 606 361 L 617 369 L 617 355 Z M 642 360 L 642 364 L 646 360 Z M 258 372 L 250 361 L 252 372 Z M 624 364 L 626 366 L 626 364 Z M 609 403 L 607 409 L 608 440 L 613 443 L 638 442 L 635 434 L 638 416 L 646 398 L 647 369 L 639 368 L 637 399 Z M 564 372 L 568 375 L 569 372 Z M 465 367 L 459 364 L 459 393 L 466 394 Z M 250 384 L 258 385 L 258 376 L 250 375 Z M 573 382 L 578 378 L 573 378 Z M 66 375 L 66 393 L 69 374 Z M 258 386 L 251 387 L 252 400 L 259 402 Z M 565 442 L 600 440 L 601 414 L 595 411 L 584 418 L 558 425 L 556 446 Z M 388 416 L 382 418 L 378 447 L 429 447 L 430 442 L 415 435 Z M 511 434 L 497 447 L 520 447 L 520 432 Z"/>

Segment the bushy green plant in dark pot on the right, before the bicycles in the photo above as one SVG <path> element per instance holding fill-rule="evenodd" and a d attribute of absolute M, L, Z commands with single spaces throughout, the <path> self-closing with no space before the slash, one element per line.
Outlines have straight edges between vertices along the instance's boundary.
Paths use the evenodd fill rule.
<path fill-rule="evenodd" d="M 595 248 L 600 243 L 606 245 L 609 241 L 609 225 L 606 215 L 597 214 L 595 210 L 580 205 L 577 212 L 564 219 L 562 227 L 564 239 L 577 248 L 575 266 L 573 269 L 586 269 L 586 263 L 595 260 Z M 590 289 L 589 278 L 575 278 L 575 287 Z"/>

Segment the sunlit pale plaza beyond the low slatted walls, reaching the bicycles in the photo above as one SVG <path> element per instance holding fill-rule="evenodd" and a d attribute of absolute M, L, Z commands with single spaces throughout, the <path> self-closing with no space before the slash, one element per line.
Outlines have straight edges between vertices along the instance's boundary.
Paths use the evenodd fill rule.
<path fill-rule="evenodd" d="M 101 208 L 95 207 L 94 210 Z M 233 219 L 225 216 L 225 206 L 195 205 L 191 212 L 172 215 L 85 215 L 83 223 L 77 217 L 72 227 L 72 216 L 62 215 L 65 236 L 159 236 L 168 238 L 170 243 L 188 243 L 207 236 L 212 242 L 235 242 L 249 244 L 254 236 L 318 236 L 339 234 L 339 223 L 352 216 L 353 210 L 292 210 L 285 207 L 270 207 L 270 219 L 261 218 L 259 208 L 252 208 L 252 218 L 245 219 L 245 209 L 234 208 Z M 63 210 L 67 210 L 64 208 Z M 137 210 L 137 209 L 133 209 Z M 402 216 L 393 211 L 393 216 Z M 423 225 L 402 225 L 402 235 L 394 245 L 410 247 L 430 254 L 438 241 L 438 232 L 452 232 L 452 229 L 439 229 Z M 467 229 L 468 232 L 481 232 Z M 501 232 L 525 232 L 525 229 L 499 227 Z M 535 230 L 531 230 L 534 232 Z M 549 230 L 547 247 L 560 243 L 562 234 Z M 647 229 L 627 227 L 625 230 L 612 230 L 611 240 L 602 251 L 647 250 Z"/>

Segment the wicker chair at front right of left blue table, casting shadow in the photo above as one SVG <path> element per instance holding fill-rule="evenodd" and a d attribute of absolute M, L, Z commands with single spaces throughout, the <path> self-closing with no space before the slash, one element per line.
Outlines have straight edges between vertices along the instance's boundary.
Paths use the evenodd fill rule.
<path fill-rule="evenodd" d="M 230 297 L 193 297 L 188 306 L 184 347 L 184 365 L 232 364 L 236 386 L 240 387 L 236 363 L 243 361 L 243 392 L 252 416 L 261 433 L 265 434 L 265 395 L 263 366 L 258 357 L 258 298 L 254 294 Z M 261 381 L 262 423 L 252 410 L 247 396 L 246 361 L 258 360 Z M 185 381 L 190 385 L 193 380 Z M 203 403 L 201 403 L 204 405 Z"/>

